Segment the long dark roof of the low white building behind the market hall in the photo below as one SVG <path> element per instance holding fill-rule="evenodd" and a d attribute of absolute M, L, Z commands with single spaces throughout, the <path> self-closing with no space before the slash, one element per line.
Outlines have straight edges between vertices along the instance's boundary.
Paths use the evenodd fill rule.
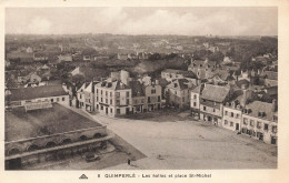
<path fill-rule="evenodd" d="M 49 98 L 67 95 L 62 85 L 42 85 L 36 88 L 21 88 L 11 90 L 11 101 L 32 100 L 38 98 Z"/>

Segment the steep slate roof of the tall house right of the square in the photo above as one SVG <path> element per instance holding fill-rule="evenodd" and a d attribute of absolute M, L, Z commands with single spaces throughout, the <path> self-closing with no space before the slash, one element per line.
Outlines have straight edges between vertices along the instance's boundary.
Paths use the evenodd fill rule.
<path fill-rule="evenodd" d="M 229 89 L 220 85 L 206 84 L 201 98 L 215 102 L 223 102 L 229 94 Z"/>

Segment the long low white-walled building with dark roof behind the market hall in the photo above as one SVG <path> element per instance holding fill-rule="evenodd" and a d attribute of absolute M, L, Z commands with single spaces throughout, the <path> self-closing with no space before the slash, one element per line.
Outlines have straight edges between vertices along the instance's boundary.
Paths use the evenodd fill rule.
<path fill-rule="evenodd" d="M 26 106 L 39 102 L 69 105 L 69 94 L 62 85 L 42 85 L 36 88 L 11 89 L 7 96 L 8 108 Z"/>

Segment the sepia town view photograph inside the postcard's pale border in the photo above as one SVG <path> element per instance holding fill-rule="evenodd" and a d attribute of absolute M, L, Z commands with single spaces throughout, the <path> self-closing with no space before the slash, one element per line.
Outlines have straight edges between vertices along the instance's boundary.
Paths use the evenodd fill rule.
<path fill-rule="evenodd" d="M 278 7 L 6 7 L 3 113 L 6 171 L 277 170 Z"/>

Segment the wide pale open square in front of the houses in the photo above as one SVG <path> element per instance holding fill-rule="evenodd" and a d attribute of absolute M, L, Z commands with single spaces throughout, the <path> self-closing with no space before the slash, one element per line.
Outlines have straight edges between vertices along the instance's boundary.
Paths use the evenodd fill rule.
<path fill-rule="evenodd" d="M 149 115 L 149 114 L 148 114 Z M 277 148 L 205 122 L 110 119 L 92 115 L 148 157 L 108 167 L 123 169 L 275 169 Z"/>

